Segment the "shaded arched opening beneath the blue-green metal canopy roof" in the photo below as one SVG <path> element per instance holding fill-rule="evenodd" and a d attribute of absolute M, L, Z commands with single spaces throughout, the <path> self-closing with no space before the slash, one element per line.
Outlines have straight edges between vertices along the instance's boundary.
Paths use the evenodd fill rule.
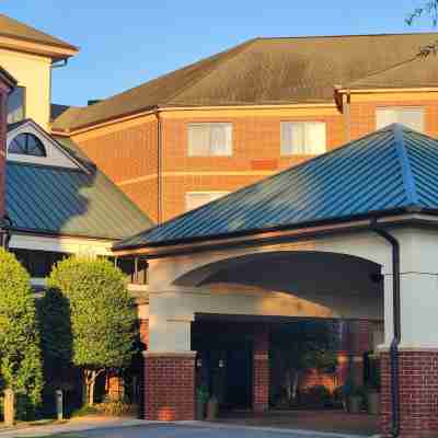
<path fill-rule="evenodd" d="M 320 414 L 310 417 L 312 428 L 319 428 L 318 418 L 327 420 L 330 412 L 338 431 L 377 430 L 377 416 L 365 415 L 367 395 L 355 417 L 344 412 L 347 395 L 342 388 L 349 384 L 353 393 L 374 383 L 372 354 L 383 321 L 379 264 L 330 252 L 261 252 L 206 264 L 174 284 L 223 295 L 229 302 L 220 311 L 212 306 L 195 313 L 192 324 L 192 349 L 198 353 L 196 387 L 207 387 L 218 400 L 223 420 L 260 424 L 269 418 L 266 425 L 272 425 L 274 415 L 274 422 L 280 418 L 291 428 L 306 428 L 318 408 Z M 241 307 L 235 297 L 246 303 L 254 300 L 254 306 Z M 328 330 L 335 337 L 326 345 L 333 369 L 320 370 L 315 361 L 290 372 L 281 355 L 290 356 L 293 348 L 285 347 L 285 338 L 298 344 L 301 331 L 304 347 L 297 351 L 302 355 L 311 350 L 306 345 L 313 335 L 320 332 L 322 338 Z"/>

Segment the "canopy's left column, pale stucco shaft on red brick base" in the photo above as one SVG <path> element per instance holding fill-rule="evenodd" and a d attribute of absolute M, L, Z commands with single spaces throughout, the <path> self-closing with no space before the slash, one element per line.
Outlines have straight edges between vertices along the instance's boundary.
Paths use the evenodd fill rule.
<path fill-rule="evenodd" d="M 145 418 L 195 419 L 195 356 L 191 318 L 151 314 L 145 356 Z"/>

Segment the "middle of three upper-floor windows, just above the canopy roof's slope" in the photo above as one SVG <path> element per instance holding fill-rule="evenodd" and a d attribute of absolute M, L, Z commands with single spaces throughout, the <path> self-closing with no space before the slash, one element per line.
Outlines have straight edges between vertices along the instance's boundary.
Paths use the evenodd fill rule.
<path fill-rule="evenodd" d="M 325 152 L 325 123 L 283 122 L 281 155 L 316 155 Z"/>

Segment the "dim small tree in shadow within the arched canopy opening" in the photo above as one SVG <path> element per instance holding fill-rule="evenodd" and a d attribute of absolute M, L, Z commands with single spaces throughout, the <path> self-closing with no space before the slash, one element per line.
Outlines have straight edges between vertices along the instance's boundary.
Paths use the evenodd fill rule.
<path fill-rule="evenodd" d="M 332 371 L 335 368 L 334 328 L 334 324 L 326 321 L 301 321 L 273 332 L 273 360 L 281 368 L 288 402 L 297 396 L 303 371 L 311 368 Z"/>

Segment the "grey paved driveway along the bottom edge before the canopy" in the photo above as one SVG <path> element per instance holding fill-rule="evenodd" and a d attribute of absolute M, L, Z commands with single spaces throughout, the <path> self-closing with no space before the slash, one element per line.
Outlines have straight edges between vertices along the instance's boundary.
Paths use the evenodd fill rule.
<path fill-rule="evenodd" d="M 78 433 L 90 438 L 326 438 L 326 435 L 291 434 L 286 430 L 256 430 L 242 427 L 204 427 L 183 425 L 147 425 L 124 428 L 107 428 Z M 336 438 L 336 435 L 331 435 Z M 342 437 L 339 435 L 338 437 Z M 345 435 L 344 435 L 345 437 Z"/>

